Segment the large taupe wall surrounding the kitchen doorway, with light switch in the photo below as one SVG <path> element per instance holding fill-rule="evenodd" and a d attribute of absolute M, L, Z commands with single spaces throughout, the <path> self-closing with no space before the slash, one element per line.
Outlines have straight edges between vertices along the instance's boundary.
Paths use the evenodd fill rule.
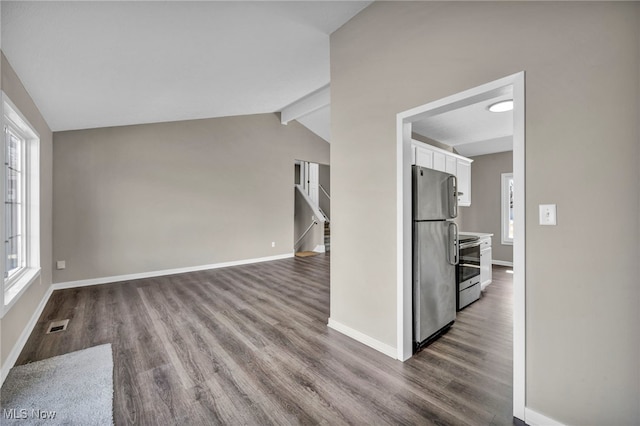
<path fill-rule="evenodd" d="M 396 114 L 524 70 L 526 405 L 640 422 L 639 57 L 638 2 L 376 2 L 333 33 L 332 320 L 396 346 Z"/>

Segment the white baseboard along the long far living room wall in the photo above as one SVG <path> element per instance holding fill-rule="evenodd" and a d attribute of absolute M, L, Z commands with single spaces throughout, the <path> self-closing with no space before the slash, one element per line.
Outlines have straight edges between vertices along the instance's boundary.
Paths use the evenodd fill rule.
<path fill-rule="evenodd" d="M 184 274 L 187 272 L 206 271 L 208 269 L 227 268 L 229 266 L 248 265 L 250 263 L 269 262 L 272 260 L 288 259 L 293 257 L 293 253 L 280 254 L 276 256 L 258 257 L 254 259 L 234 260 L 231 262 L 214 263 L 211 265 L 190 266 L 187 268 L 164 269 L 161 271 L 141 272 L 128 275 L 114 275 L 110 277 L 91 278 L 87 280 L 67 281 L 53 284 L 54 290 L 63 290 L 66 288 L 87 287 L 90 285 L 109 284 L 121 281 L 140 280 L 143 278 L 162 277 L 165 275 Z"/>

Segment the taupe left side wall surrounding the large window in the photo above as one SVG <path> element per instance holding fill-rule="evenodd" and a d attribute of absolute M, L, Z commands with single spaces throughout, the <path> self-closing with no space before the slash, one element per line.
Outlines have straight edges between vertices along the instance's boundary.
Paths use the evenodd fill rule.
<path fill-rule="evenodd" d="M 7 58 L 4 54 L 0 56 L 2 90 L 40 136 L 40 265 L 42 268 L 39 280 L 29 286 L 0 322 L 0 362 L 4 369 L 9 354 L 18 344 L 21 334 L 37 312 L 51 285 L 52 134 Z"/>

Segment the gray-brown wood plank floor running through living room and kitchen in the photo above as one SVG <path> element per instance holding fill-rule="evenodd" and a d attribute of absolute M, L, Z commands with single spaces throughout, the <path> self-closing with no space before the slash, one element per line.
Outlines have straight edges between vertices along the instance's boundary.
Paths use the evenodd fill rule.
<path fill-rule="evenodd" d="M 53 293 L 18 364 L 111 343 L 116 424 L 512 424 L 511 275 L 405 363 L 327 328 L 328 255 Z M 45 334 L 52 320 L 67 331 Z"/>

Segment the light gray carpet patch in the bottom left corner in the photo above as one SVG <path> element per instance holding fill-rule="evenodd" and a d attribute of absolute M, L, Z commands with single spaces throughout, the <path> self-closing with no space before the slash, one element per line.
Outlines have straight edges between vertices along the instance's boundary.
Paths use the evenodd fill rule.
<path fill-rule="evenodd" d="M 113 424 L 111 345 L 14 367 L 0 390 L 0 424 Z"/>

